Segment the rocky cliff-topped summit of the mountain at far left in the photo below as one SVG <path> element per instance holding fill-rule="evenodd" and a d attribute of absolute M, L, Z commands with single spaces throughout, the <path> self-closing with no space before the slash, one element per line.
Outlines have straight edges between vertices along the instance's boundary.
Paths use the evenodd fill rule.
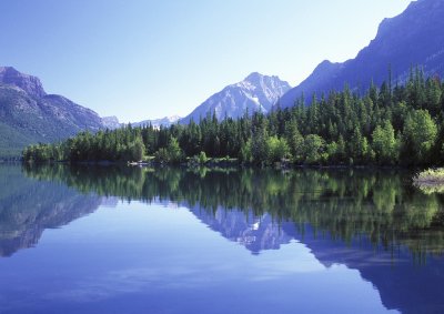
<path fill-rule="evenodd" d="M 18 87 L 31 97 L 42 98 L 47 94 L 39 78 L 23 74 L 12 67 L 0 67 L 0 84 Z"/>

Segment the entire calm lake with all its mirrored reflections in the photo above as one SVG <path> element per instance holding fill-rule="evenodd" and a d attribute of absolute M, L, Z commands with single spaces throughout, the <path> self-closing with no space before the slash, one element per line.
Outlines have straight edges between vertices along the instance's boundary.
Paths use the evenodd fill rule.
<path fill-rule="evenodd" d="M 411 175 L 0 164 L 0 313 L 444 313 Z"/>

